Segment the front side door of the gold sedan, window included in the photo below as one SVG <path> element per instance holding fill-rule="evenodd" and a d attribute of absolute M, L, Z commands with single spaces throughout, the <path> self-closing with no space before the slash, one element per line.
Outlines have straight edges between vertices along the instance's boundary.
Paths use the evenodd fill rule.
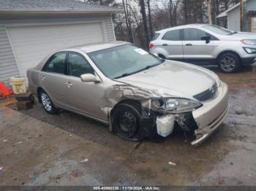
<path fill-rule="evenodd" d="M 108 120 L 108 114 L 102 110 L 102 99 L 105 91 L 103 83 L 82 82 L 80 75 L 94 74 L 90 63 L 77 52 L 69 52 L 67 57 L 69 80 L 67 81 L 70 109 Z"/>

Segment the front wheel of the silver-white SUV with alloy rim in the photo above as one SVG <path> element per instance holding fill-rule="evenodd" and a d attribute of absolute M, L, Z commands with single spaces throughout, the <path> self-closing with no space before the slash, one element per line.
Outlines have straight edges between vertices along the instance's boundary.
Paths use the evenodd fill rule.
<path fill-rule="evenodd" d="M 218 58 L 218 66 L 225 73 L 233 73 L 240 69 L 240 59 L 238 55 L 230 52 L 224 53 Z"/>

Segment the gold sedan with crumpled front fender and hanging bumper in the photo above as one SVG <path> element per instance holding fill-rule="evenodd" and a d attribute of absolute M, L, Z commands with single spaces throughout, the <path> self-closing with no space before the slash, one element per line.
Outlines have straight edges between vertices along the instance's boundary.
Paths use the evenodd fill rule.
<path fill-rule="evenodd" d="M 67 109 L 109 125 L 122 139 L 162 139 L 178 126 L 200 144 L 228 110 L 227 85 L 214 72 L 165 61 L 127 42 L 54 52 L 27 71 L 48 113 Z"/>

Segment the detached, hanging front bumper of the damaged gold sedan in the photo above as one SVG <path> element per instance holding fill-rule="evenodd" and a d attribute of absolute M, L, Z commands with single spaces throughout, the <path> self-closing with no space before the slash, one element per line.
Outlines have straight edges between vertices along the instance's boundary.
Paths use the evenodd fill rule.
<path fill-rule="evenodd" d="M 228 112 L 228 90 L 227 85 L 222 82 L 222 86 L 218 88 L 217 94 L 210 101 L 203 103 L 203 106 L 192 112 L 198 129 L 195 130 L 195 141 L 192 145 L 202 143 L 204 140 L 214 133 Z"/>

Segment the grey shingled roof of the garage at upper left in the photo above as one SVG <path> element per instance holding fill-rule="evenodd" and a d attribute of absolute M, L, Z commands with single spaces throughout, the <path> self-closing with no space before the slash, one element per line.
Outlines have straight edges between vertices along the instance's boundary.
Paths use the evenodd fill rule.
<path fill-rule="evenodd" d="M 4 0 L 0 12 L 120 12 L 122 9 L 75 0 Z"/>

